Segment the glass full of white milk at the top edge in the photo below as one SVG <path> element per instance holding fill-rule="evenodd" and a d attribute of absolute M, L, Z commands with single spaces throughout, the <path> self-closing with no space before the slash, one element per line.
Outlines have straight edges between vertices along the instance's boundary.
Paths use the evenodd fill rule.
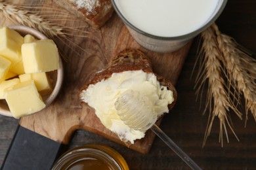
<path fill-rule="evenodd" d="M 227 0 L 112 0 L 133 38 L 155 52 L 173 52 L 213 24 Z"/>

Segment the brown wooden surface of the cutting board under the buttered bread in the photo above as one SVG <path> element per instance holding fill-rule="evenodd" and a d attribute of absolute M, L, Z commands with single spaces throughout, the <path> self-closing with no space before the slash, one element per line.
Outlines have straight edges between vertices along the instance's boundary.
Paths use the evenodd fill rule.
<path fill-rule="evenodd" d="M 28 4 L 32 3 L 32 1 L 15 1 L 15 3 Z M 51 19 L 54 16 L 58 16 L 60 12 L 63 12 L 62 14 L 67 13 L 66 10 L 59 9 L 52 1 L 33 1 L 33 5 L 35 4 L 38 4 L 40 7 L 56 8 L 56 10 L 51 11 Z M 39 10 L 40 14 L 45 12 L 45 10 L 37 10 Z M 70 21 L 68 16 L 63 16 L 62 18 L 63 20 L 56 20 L 55 22 L 74 27 L 87 27 L 88 25 L 83 20 L 77 22 L 74 20 Z M 9 20 L 2 20 L 0 24 L 2 27 L 12 25 L 13 23 Z M 112 18 L 101 29 L 95 29 L 88 25 L 85 31 L 88 31 L 86 38 L 79 38 L 78 35 L 69 37 L 71 41 L 78 44 L 83 50 L 74 50 L 72 45 L 70 45 L 70 48 L 67 48 L 64 42 L 69 44 L 70 42 L 65 39 L 55 39 L 60 53 L 65 58 L 62 90 L 53 104 L 47 107 L 47 109 L 21 118 L 20 126 L 63 144 L 69 143 L 72 134 L 77 129 L 85 129 L 123 144 L 117 135 L 100 123 L 92 109 L 81 105 L 78 98 L 79 90 L 93 73 L 103 69 L 112 56 L 125 48 L 142 50 L 151 59 L 154 72 L 175 84 L 179 78 L 179 73 L 190 49 L 191 42 L 180 50 L 168 54 L 150 52 L 134 41 L 116 13 L 113 14 Z M 144 139 L 137 140 L 130 147 L 133 150 L 146 154 L 152 146 L 154 137 L 155 135 L 152 131 L 148 131 Z"/>

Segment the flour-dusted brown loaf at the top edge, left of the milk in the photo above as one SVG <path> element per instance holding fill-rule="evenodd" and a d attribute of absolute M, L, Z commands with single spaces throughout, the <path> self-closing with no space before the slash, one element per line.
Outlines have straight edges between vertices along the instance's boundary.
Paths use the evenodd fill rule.
<path fill-rule="evenodd" d="M 114 8 L 111 0 L 53 0 L 79 18 L 84 18 L 96 28 L 102 27 L 112 16 Z"/>

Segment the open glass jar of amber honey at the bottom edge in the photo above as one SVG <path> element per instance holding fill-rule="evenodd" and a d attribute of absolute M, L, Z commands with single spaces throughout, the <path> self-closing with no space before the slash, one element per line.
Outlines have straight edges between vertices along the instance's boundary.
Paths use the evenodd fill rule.
<path fill-rule="evenodd" d="M 86 144 L 68 150 L 53 165 L 53 170 L 129 169 L 121 154 L 109 146 Z"/>

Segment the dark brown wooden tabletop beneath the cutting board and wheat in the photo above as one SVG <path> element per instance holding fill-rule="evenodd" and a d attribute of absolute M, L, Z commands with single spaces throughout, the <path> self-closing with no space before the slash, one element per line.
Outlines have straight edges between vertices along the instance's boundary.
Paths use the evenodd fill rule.
<path fill-rule="evenodd" d="M 237 42 L 253 52 L 256 51 L 255 9 L 255 0 L 228 1 L 224 12 L 216 22 L 223 33 L 234 37 Z M 161 129 L 203 169 L 255 169 L 255 120 L 253 116 L 249 115 L 247 126 L 244 127 L 244 111 L 242 111 L 244 113 L 243 120 L 235 115 L 230 116 L 240 142 L 228 131 L 230 143 L 226 143 L 224 140 L 224 147 L 221 148 L 219 120 L 215 119 L 211 135 L 205 146 L 202 147 L 208 113 L 202 115 L 203 109 L 200 110 L 200 103 L 196 101 L 194 90 L 195 74 L 191 76 L 197 48 L 198 37 L 192 44 L 176 84 L 179 95 L 177 103 L 171 113 L 163 118 Z M 195 73 L 197 73 L 197 69 Z M 243 106 L 244 103 L 241 106 L 242 110 L 244 110 Z M 0 116 L 0 164 L 5 158 L 17 126 L 18 120 Z M 89 131 L 78 130 L 72 137 L 68 148 L 89 143 L 106 144 L 116 149 L 125 158 L 131 169 L 189 169 L 158 137 L 154 140 L 150 152 L 144 155 Z"/>

